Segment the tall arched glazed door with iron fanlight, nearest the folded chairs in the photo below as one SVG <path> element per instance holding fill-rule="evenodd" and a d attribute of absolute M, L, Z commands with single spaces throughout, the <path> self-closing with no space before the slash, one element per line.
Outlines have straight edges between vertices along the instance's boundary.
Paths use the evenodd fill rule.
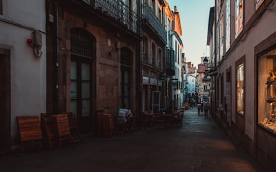
<path fill-rule="evenodd" d="M 70 110 L 78 118 L 89 117 L 92 109 L 92 61 L 95 38 L 82 28 L 72 28 L 70 63 Z"/>

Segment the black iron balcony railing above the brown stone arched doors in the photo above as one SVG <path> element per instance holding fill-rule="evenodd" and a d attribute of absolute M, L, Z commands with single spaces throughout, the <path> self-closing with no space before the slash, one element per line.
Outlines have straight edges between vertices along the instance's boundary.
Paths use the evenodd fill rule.
<path fill-rule="evenodd" d="M 127 6 L 124 1 L 121 0 L 83 0 L 90 6 L 103 12 L 119 23 L 124 25 L 128 30 L 138 33 L 138 17 L 135 11 Z"/>

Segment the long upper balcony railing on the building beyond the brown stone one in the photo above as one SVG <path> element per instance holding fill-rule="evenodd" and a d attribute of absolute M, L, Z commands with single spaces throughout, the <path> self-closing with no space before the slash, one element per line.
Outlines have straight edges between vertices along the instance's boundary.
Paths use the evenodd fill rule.
<path fill-rule="evenodd" d="M 163 39 L 163 41 L 166 42 L 166 30 L 159 21 L 159 19 L 155 16 L 155 13 L 152 12 L 152 8 L 150 8 L 147 3 L 143 3 L 142 5 L 142 19 L 148 22 L 151 25 L 151 27 L 159 34 L 161 39 Z"/>

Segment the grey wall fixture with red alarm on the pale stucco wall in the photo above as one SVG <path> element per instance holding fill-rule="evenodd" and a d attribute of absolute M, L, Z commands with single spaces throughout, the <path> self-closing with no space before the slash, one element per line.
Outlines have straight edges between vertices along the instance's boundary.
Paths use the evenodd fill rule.
<path fill-rule="evenodd" d="M 34 55 L 40 57 L 42 55 L 42 34 L 39 31 L 32 32 L 32 39 L 27 39 L 28 45 L 34 50 Z"/>

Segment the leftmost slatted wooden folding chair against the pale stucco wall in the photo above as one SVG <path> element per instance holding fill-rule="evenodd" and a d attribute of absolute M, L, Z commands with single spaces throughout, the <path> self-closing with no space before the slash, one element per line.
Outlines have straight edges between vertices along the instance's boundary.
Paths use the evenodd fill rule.
<path fill-rule="evenodd" d="M 42 132 L 39 116 L 17 116 L 17 125 L 21 141 L 21 154 L 24 153 L 24 144 L 30 141 L 37 141 L 41 149 Z"/>

